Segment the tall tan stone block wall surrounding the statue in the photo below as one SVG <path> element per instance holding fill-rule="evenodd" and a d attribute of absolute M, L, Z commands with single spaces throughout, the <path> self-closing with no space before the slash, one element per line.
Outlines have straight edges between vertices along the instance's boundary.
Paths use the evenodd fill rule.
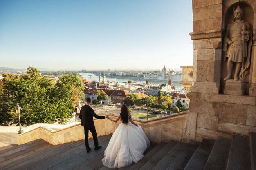
<path fill-rule="evenodd" d="M 192 0 L 192 3 L 193 33 L 189 35 L 194 48 L 193 82 L 191 92 L 187 94 L 190 105 L 183 139 L 201 141 L 202 138 L 217 139 L 218 136 L 231 138 L 232 134 L 248 136 L 249 132 L 256 132 L 255 43 L 252 45 L 249 74 L 243 81 L 234 83 L 234 80 L 223 80 L 227 75 L 227 62 L 223 58 L 222 42 L 227 16 L 232 16 L 230 13 L 237 5 L 245 9 L 246 20 L 254 18 L 250 24 L 253 34 L 256 33 L 256 13 L 250 15 L 247 10 L 256 12 L 256 2 Z"/>

